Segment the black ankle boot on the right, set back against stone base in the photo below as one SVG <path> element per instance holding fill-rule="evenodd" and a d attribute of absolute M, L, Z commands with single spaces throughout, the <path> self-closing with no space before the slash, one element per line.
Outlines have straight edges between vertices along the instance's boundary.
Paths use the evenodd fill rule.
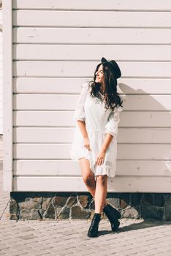
<path fill-rule="evenodd" d="M 107 206 L 103 208 L 103 211 L 106 217 L 110 221 L 112 230 L 113 231 L 117 230 L 120 225 L 120 222 L 118 221 L 118 219 L 121 218 L 120 212 L 117 211 L 115 208 L 113 208 L 113 206 L 110 206 L 109 203 L 107 203 Z"/>

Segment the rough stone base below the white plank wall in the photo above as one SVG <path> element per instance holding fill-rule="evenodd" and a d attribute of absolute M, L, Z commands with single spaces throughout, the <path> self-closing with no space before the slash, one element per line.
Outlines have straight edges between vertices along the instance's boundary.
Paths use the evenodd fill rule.
<path fill-rule="evenodd" d="M 107 193 L 121 218 L 171 220 L 171 193 Z M 11 192 L 9 219 L 91 219 L 89 192 Z M 102 214 L 102 219 L 105 215 Z"/>

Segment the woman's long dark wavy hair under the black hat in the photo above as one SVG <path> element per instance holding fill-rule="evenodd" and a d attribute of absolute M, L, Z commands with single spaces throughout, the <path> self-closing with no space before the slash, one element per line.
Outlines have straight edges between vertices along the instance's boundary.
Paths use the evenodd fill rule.
<path fill-rule="evenodd" d="M 101 95 L 99 94 L 100 89 L 100 83 L 96 83 L 96 72 L 99 69 L 100 65 L 102 63 L 98 64 L 96 67 L 96 70 L 94 72 L 94 80 L 91 80 L 88 83 L 88 86 L 90 88 L 90 95 L 91 97 L 97 97 L 99 99 L 102 99 Z M 123 101 L 121 100 L 121 97 L 119 96 L 117 92 L 117 79 L 115 78 L 115 75 L 111 71 L 109 67 L 107 67 L 106 64 L 102 64 L 103 67 L 103 73 L 104 73 L 104 108 L 107 110 L 110 108 L 111 110 L 114 110 L 115 108 L 118 108 L 119 106 L 122 106 Z"/>

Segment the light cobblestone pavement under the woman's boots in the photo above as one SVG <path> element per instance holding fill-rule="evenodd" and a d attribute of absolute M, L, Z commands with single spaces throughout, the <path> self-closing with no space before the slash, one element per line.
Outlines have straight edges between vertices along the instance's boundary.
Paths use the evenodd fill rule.
<path fill-rule="evenodd" d="M 171 255 L 171 222 L 121 219 L 114 233 L 110 222 L 102 219 L 99 236 L 88 238 L 88 220 L 9 220 L 9 193 L 2 191 L 2 170 L 0 219 L 0 255 Z"/>

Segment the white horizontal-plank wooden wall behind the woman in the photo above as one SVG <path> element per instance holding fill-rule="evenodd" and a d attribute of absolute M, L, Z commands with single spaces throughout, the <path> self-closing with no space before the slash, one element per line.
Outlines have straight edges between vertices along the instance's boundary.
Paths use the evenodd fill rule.
<path fill-rule="evenodd" d="M 12 12 L 12 190 L 87 191 L 72 115 L 104 56 L 126 94 L 108 191 L 170 192 L 171 1 L 14 0 Z"/>

